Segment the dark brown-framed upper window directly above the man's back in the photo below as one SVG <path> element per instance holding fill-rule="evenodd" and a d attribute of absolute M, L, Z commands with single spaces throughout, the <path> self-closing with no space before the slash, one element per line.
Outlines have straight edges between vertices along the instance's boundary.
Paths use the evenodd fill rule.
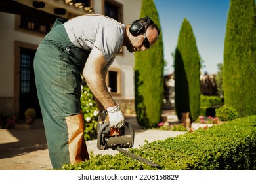
<path fill-rule="evenodd" d="M 105 1 L 105 15 L 114 18 L 118 22 L 123 21 L 123 5 L 113 0 Z"/>

